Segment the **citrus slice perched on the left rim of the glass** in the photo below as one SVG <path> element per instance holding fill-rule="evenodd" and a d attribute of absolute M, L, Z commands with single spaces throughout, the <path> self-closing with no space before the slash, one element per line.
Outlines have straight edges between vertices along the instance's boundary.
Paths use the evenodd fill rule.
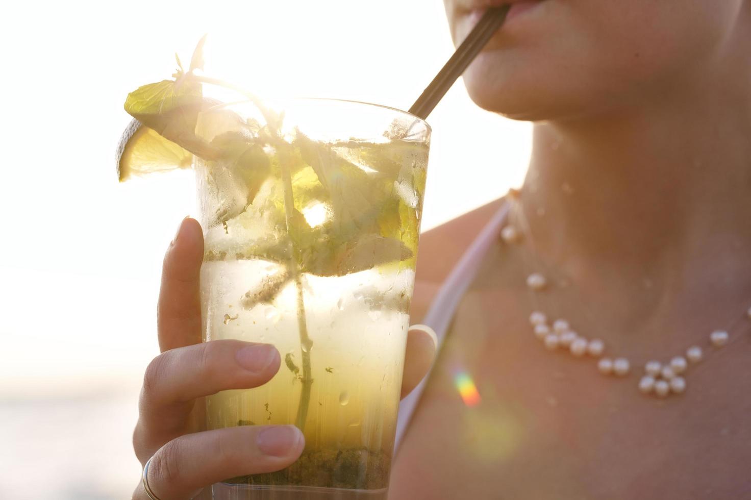
<path fill-rule="evenodd" d="M 116 158 L 120 182 L 131 176 L 189 168 L 193 163 L 191 152 L 161 137 L 137 119 L 122 133 Z"/>

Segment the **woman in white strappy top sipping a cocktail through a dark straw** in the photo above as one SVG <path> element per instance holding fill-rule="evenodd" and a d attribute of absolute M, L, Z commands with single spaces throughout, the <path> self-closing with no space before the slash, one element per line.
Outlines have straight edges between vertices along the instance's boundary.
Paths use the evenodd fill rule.
<path fill-rule="evenodd" d="M 454 41 L 502 3 L 446 0 Z M 535 123 L 529 173 L 520 193 L 421 239 L 413 322 L 487 221 L 508 210 L 502 224 L 514 228 L 484 253 L 457 308 L 390 498 L 748 498 L 751 2 L 517 3 L 464 80 L 481 107 Z M 178 438 L 195 429 L 193 397 L 262 383 L 279 365 L 257 348 L 237 358 L 253 361 L 250 372 L 224 363 L 207 368 L 210 382 L 189 383 L 198 373 L 186 360 L 231 359 L 240 347 L 177 348 L 198 339 L 200 264 L 200 230 L 184 221 L 160 300 L 160 345 L 175 349 L 147 373 L 134 436 L 142 461 L 183 440 L 161 448 L 149 477 L 163 500 L 216 479 L 207 449 L 225 472 L 248 473 L 237 464 L 282 468 L 303 445 L 289 429 L 223 454 L 227 441 L 209 432 Z M 542 340 L 532 312 L 547 315 L 531 317 Z M 553 333 L 554 318 L 569 328 Z M 566 340 L 572 330 L 580 336 Z M 599 363 L 622 376 L 598 372 L 591 342 L 595 356 L 569 354 L 581 337 L 628 360 Z M 429 339 L 415 330 L 406 385 L 430 359 Z M 673 357 L 683 361 L 650 365 L 651 383 L 641 380 L 645 363 Z M 480 404 L 457 395 L 456 366 Z M 134 498 L 146 498 L 140 486 Z"/>

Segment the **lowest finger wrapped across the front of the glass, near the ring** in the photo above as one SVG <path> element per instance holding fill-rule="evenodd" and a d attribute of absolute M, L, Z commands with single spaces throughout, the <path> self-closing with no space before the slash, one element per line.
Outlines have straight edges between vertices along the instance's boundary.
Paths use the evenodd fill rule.
<path fill-rule="evenodd" d="M 149 487 L 161 500 L 185 500 L 231 477 L 285 468 L 304 447 L 303 433 L 295 426 L 239 426 L 183 435 L 152 456 Z"/>

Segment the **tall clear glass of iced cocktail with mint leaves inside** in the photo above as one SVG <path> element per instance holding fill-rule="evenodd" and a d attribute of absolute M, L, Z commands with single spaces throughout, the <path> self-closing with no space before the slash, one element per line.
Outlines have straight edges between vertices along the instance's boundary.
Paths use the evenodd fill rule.
<path fill-rule="evenodd" d="M 214 498 L 386 498 L 430 127 L 351 101 L 271 109 L 274 127 L 250 102 L 198 120 L 204 139 L 237 149 L 195 165 L 204 340 L 269 342 L 282 356 L 263 387 L 207 398 L 207 425 L 294 424 L 306 447 Z M 237 134 L 246 146 L 226 140 Z"/>

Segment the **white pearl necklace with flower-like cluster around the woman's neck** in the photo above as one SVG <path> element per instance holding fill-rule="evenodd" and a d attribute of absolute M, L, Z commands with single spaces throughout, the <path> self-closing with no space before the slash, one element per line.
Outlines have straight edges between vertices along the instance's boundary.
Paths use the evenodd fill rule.
<path fill-rule="evenodd" d="M 508 191 L 508 199 L 511 203 L 517 202 L 520 191 L 511 188 Z M 520 218 L 523 214 L 517 210 Z M 529 224 L 523 224 L 526 232 L 529 232 Z M 506 245 L 517 245 L 524 238 L 524 233 L 511 223 L 506 224 L 501 230 L 501 239 Z M 539 294 L 548 288 L 547 279 L 541 273 L 531 273 L 526 278 L 526 286 L 535 294 Z M 746 316 L 751 319 L 751 308 L 746 311 Z M 540 310 L 532 311 L 529 315 L 529 324 L 535 337 L 541 341 L 548 351 L 568 350 L 570 354 L 578 358 L 591 358 L 597 360 L 597 369 L 602 375 L 615 375 L 626 377 L 631 372 L 631 363 L 626 357 L 606 357 L 605 342 L 602 339 L 588 339 L 572 329 L 566 319 L 556 319 L 549 323 L 547 315 Z M 730 335 L 727 330 L 715 330 L 708 337 L 708 345 L 716 350 L 728 344 Z M 638 381 L 638 390 L 645 395 L 653 395 L 665 398 L 671 395 L 681 394 L 686 390 L 686 374 L 691 366 L 696 365 L 704 358 L 704 349 L 700 345 L 692 345 L 685 353 L 678 354 L 667 363 L 658 360 L 650 360 L 644 365 L 644 375 Z"/>

